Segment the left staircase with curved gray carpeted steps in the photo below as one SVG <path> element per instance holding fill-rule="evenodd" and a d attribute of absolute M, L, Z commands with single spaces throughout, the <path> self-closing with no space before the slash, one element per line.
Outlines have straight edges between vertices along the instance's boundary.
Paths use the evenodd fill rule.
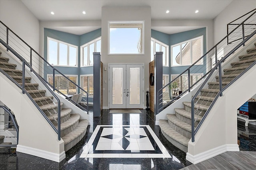
<path fill-rule="evenodd" d="M 16 64 L 9 63 L 9 58 L 1 57 L 2 52 L 0 51 L 0 68 L 4 70 L 8 75 L 10 75 L 16 82 L 22 84 L 22 70 L 16 70 Z M 25 78 L 25 89 L 34 99 L 36 104 L 44 111 L 45 115 L 50 119 L 50 121 L 58 129 L 58 107 L 53 102 L 53 96 L 46 96 L 46 90 L 38 89 L 39 84 L 31 83 L 31 77 Z M 80 115 L 72 113 L 71 108 L 63 108 L 63 103 L 61 102 L 61 138 L 64 141 L 64 150 L 67 151 L 76 145 L 86 134 L 86 129 L 88 126 L 87 119 L 80 120 Z M 1 143 L 0 137 L 0 143 Z"/>

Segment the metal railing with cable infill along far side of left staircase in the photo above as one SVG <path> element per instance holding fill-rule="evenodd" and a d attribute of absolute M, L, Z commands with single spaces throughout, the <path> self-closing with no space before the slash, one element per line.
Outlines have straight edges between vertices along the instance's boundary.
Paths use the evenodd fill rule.
<path fill-rule="evenodd" d="M 62 72 L 60 72 L 58 69 L 56 69 L 54 66 L 52 66 L 50 63 L 48 63 L 48 61 L 46 61 L 46 59 L 44 59 L 41 55 L 39 55 L 30 45 L 28 45 L 22 38 L 20 38 L 16 33 L 14 33 L 14 31 L 12 31 L 9 27 L 7 27 L 2 21 L 0 21 L 0 23 L 6 28 L 6 31 L 4 32 L 3 28 L 1 27 L 2 29 L 2 36 L 1 38 L 2 39 L 6 39 L 6 43 L 8 45 L 10 45 L 10 43 L 12 43 L 12 48 L 14 48 L 14 46 L 16 46 L 16 51 L 20 51 L 20 55 L 21 56 L 28 56 L 29 57 L 29 61 L 28 63 L 30 64 L 30 66 L 33 67 L 33 63 L 38 63 L 38 66 L 47 74 L 52 74 L 53 76 L 53 84 L 50 84 L 46 79 L 44 79 L 44 77 L 41 76 L 41 78 L 46 82 L 46 84 L 48 84 L 53 91 L 57 91 L 59 94 L 63 95 L 67 100 L 70 100 L 73 104 L 75 104 L 77 107 L 79 107 L 80 109 L 84 110 L 84 107 L 82 107 L 80 104 L 76 103 L 76 101 L 73 101 L 72 99 L 68 98 L 68 96 L 66 94 L 64 94 L 63 92 L 61 92 L 58 88 L 56 88 L 55 84 L 55 76 L 56 76 L 56 73 L 61 75 L 63 78 L 65 78 L 68 82 L 67 84 L 72 84 L 72 86 L 75 86 L 76 87 L 76 90 L 75 92 L 73 93 L 77 93 L 77 89 L 79 89 L 80 92 L 82 92 L 83 94 L 83 97 L 86 98 L 86 111 L 87 111 L 87 114 L 89 114 L 89 102 L 88 102 L 88 92 L 86 92 L 83 88 L 81 88 L 78 84 L 76 84 L 74 81 L 70 80 L 70 78 L 68 78 L 67 76 L 65 76 L 64 74 L 62 74 Z M 1 31 L 1 30 L 0 30 Z M 13 34 L 10 35 L 10 32 Z M 5 37 L 3 36 L 5 35 Z M 19 43 L 17 39 L 15 39 L 14 37 L 17 37 L 18 40 L 20 40 L 21 42 Z M 14 42 L 15 41 L 15 42 Z M 15 44 L 16 43 L 16 44 Z M 24 43 L 25 46 L 27 47 L 23 47 L 21 43 Z M 21 49 L 23 47 L 23 49 Z M 8 50 L 7 50 L 8 51 Z M 21 54 L 22 53 L 22 54 Z M 39 57 L 39 59 L 37 61 L 35 61 L 37 58 L 36 56 L 34 56 L 34 54 L 36 56 Z M 41 59 L 41 60 L 40 60 Z M 43 65 L 43 66 L 41 66 Z M 44 67 L 44 66 L 50 66 L 50 68 L 52 70 L 50 70 L 50 68 L 48 67 Z M 48 70 L 46 70 L 48 69 Z M 40 70 L 39 70 L 40 71 Z M 42 74 L 43 74 L 43 71 L 42 71 Z M 60 82 L 58 82 L 60 83 Z M 72 92 L 72 90 L 70 89 L 67 89 L 69 91 Z M 68 92 L 67 92 L 68 94 Z M 82 98 L 82 100 L 84 100 L 84 98 Z"/>

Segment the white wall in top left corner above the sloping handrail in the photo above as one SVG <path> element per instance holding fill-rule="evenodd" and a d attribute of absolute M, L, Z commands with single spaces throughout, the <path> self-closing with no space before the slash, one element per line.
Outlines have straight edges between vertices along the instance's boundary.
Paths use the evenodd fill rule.
<path fill-rule="evenodd" d="M 39 51 L 39 21 L 20 0 L 0 0 L 0 20 Z"/>

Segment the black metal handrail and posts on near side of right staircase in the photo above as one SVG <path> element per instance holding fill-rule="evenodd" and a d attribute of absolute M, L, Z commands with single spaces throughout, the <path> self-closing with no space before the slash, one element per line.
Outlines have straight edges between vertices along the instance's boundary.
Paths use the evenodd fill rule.
<path fill-rule="evenodd" d="M 196 93 L 194 94 L 194 96 L 192 97 L 191 100 L 191 127 L 192 127 L 192 142 L 195 141 L 195 134 L 198 131 L 198 129 L 201 127 L 202 123 L 204 122 L 204 119 L 207 117 L 208 113 L 210 112 L 210 110 L 212 109 L 212 107 L 214 106 L 214 103 L 216 102 L 216 100 L 218 99 L 219 96 L 222 96 L 222 92 L 224 90 L 226 90 L 226 87 L 222 88 L 222 75 L 221 75 L 221 64 L 223 63 L 224 60 L 226 60 L 230 55 L 232 55 L 239 47 L 241 47 L 242 45 L 244 45 L 244 43 L 246 43 L 246 41 L 248 41 L 253 35 L 256 34 L 256 31 L 254 31 L 251 35 L 249 35 L 246 39 L 244 39 L 241 43 L 239 43 L 234 49 L 232 49 L 226 56 L 224 56 L 222 59 L 220 59 L 220 61 L 218 61 L 218 63 L 214 66 L 214 68 L 212 68 L 212 71 L 210 72 L 210 74 L 207 76 L 207 78 L 204 80 L 204 82 L 202 83 L 202 85 L 200 86 L 200 88 L 196 91 Z M 254 63 L 252 63 L 250 65 L 250 67 L 246 68 L 242 73 L 239 74 L 238 78 L 241 77 L 245 72 L 247 72 L 252 66 L 254 66 L 256 64 L 256 61 L 254 61 Z M 206 111 L 206 113 L 204 113 L 204 116 L 202 117 L 202 120 L 198 123 L 196 130 L 195 130 L 195 126 L 194 126 L 194 100 L 196 99 L 196 96 L 200 93 L 200 91 L 202 90 L 202 88 L 204 88 L 204 85 L 207 83 L 207 81 L 209 80 L 209 78 L 212 76 L 213 72 L 216 69 L 219 69 L 219 83 L 220 83 L 220 91 L 218 92 L 217 96 L 214 98 L 214 101 L 210 104 L 208 110 Z M 229 84 L 233 84 L 238 78 L 235 78 L 234 80 L 232 80 Z M 229 86 L 230 86 L 229 85 Z"/>

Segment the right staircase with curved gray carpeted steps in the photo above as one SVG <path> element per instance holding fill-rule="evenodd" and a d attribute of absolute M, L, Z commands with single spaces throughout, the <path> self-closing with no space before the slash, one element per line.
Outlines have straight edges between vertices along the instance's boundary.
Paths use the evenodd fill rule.
<path fill-rule="evenodd" d="M 250 64 L 256 61 L 255 48 L 247 49 L 247 55 L 239 56 L 239 61 L 231 63 L 231 67 L 224 69 L 222 74 L 222 88 L 245 70 Z M 219 76 L 216 82 L 208 82 L 208 88 L 201 90 L 201 96 L 196 96 L 195 100 L 195 127 L 201 121 L 202 116 L 209 108 L 215 96 L 219 92 Z M 175 108 L 175 114 L 167 114 L 168 120 L 160 119 L 159 126 L 161 132 L 174 146 L 188 151 L 188 142 L 191 138 L 191 102 L 183 102 L 184 108 Z M 196 111 L 197 110 L 197 111 Z"/>

